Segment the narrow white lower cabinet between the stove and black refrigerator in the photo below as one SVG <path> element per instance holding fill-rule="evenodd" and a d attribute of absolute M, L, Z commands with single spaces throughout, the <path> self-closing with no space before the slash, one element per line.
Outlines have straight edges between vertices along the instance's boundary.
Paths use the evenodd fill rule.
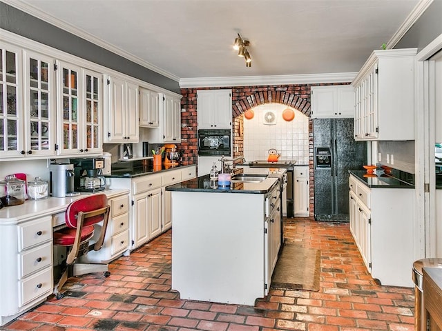
<path fill-rule="evenodd" d="M 309 167 L 294 168 L 294 214 L 309 216 Z"/>

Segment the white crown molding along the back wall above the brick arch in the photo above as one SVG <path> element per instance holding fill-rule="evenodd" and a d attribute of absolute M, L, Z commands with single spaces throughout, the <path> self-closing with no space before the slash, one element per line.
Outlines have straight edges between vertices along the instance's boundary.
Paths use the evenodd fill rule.
<path fill-rule="evenodd" d="M 279 76 L 182 78 L 180 88 L 220 88 L 228 86 L 268 86 L 289 84 L 349 83 L 357 72 L 336 74 L 287 74 Z"/>

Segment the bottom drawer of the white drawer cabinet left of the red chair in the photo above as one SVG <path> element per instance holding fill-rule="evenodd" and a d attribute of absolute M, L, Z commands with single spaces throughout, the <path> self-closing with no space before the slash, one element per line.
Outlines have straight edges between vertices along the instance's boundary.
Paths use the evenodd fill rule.
<path fill-rule="evenodd" d="M 52 268 L 50 267 L 19 281 L 19 306 L 26 305 L 44 294 L 50 294 L 52 283 Z"/>

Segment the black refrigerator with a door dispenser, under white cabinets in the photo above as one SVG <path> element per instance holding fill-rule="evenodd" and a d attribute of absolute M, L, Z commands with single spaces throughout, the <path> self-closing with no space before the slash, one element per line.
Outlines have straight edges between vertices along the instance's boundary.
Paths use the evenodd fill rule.
<path fill-rule="evenodd" d="M 314 211 L 317 221 L 349 221 L 349 173 L 363 170 L 367 143 L 355 141 L 353 119 L 314 119 Z"/>

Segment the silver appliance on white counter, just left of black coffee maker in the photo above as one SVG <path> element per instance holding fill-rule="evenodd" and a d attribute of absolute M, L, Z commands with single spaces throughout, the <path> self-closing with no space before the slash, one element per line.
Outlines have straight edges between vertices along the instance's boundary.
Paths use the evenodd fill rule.
<path fill-rule="evenodd" d="M 79 195 L 74 189 L 74 165 L 54 163 L 49 165 L 49 188 L 52 197 L 64 198 Z"/>

